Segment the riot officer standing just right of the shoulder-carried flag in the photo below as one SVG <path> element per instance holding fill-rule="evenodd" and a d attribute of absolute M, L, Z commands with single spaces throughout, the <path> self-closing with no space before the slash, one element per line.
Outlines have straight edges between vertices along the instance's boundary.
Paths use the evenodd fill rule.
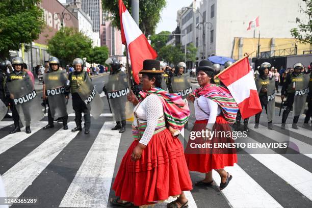
<path fill-rule="evenodd" d="M 257 76 L 255 79 L 256 86 L 258 89 L 259 99 L 261 102 L 261 107 L 262 108 L 265 107 L 266 111 L 268 110 L 267 109 L 267 104 L 268 104 L 267 92 L 268 92 L 268 85 L 270 83 L 270 77 L 268 76 L 270 67 L 271 67 L 271 64 L 268 62 L 261 64 L 261 67 L 259 69 L 259 76 Z M 255 115 L 254 128 L 258 128 L 259 126 L 261 113 L 262 112 L 259 112 L 258 114 Z M 268 129 L 270 130 L 273 129 L 272 120 L 268 121 Z"/>

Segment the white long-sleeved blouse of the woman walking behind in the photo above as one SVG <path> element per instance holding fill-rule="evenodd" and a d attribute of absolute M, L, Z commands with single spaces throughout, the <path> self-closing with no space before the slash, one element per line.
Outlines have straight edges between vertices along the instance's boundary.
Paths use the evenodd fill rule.
<path fill-rule="evenodd" d="M 205 114 L 200 108 L 207 114 Z M 206 98 L 205 96 L 200 96 L 195 99 L 194 101 L 194 108 L 195 108 L 195 118 L 196 120 L 208 120 L 207 128 L 212 129 L 213 125 L 216 122 L 217 116 L 221 114 L 221 108 L 217 104 L 217 102 Z"/>

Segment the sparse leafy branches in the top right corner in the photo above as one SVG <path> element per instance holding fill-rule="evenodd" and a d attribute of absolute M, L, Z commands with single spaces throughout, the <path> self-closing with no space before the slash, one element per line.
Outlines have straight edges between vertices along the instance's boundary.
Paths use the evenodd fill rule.
<path fill-rule="evenodd" d="M 301 6 L 300 6 L 301 7 Z M 312 0 L 306 1 L 306 8 L 301 7 L 301 11 L 305 13 L 309 18 L 307 23 L 301 22 L 299 18 L 296 18 L 298 28 L 291 30 L 291 34 L 294 38 L 298 39 L 301 43 L 312 44 Z"/>

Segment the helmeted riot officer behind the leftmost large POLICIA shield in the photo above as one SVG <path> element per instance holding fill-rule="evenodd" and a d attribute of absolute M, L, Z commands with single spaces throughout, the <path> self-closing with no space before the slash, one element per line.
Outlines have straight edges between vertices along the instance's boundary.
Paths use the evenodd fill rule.
<path fill-rule="evenodd" d="M 24 72 L 22 70 L 22 65 L 23 65 L 23 60 L 20 57 L 15 57 L 12 59 L 12 66 L 14 68 L 14 71 L 12 71 L 10 73 L 10 76 L 8 77 L 8 82 L 14 82 L 15 80 L 21 80 L 23 79 L 25 76 L 28 76 L 27 72 Z M 11 96 L 11 99 L 13 99 L 13 97 Z M 16 107 L 14 105 L 14 102 L 11 100 L 12 103 L 12 118 L 14 121 L 14 129 L 10 132 L 10 134 L 15 134 L 17 132 L 20 132 L 20 127 L 19 127 L 19 115 L 18 112 L 16 110 Z M 30 128 L 30 119 L 26 118 L 26 133 L 30 134 L 32 133 L 31 128 Z"/>

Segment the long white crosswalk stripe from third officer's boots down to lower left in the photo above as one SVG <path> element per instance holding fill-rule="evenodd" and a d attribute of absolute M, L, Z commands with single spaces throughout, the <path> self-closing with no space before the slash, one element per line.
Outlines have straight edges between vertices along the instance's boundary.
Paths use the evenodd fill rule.
<path fill-rule="evenodd" d="M 75 126 L 74 122 L 68 123 L 69 129 Z M 77 134 L 78 132 L 60 128 L 53 136 L 5 172 L 3 180 L 8 197 L 19 197 Z"/>

